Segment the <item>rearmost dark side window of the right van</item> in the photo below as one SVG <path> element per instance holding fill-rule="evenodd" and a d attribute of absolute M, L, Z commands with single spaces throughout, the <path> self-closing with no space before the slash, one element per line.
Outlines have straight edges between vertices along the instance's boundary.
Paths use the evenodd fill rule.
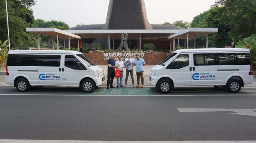
<path fill-rule="evenodd" d="M 220 53 L 217 54 L 218 65 L 246 65 L 251 63 L 249 53 Z"/>

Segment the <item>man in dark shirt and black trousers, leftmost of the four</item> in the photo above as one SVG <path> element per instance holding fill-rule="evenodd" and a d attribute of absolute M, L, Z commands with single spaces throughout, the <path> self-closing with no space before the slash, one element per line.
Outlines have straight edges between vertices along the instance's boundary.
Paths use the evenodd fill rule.
<path fill-rule="evenodd" d="M 107 65 L 107 89 L 109 89 L 109 83 L 111 88 L 115 88 L 113 86 L 113 80 L 115 78 L 115 68 L 120 65 L 115 66 L 114 55 L 112 53 L 110 54 L 109 59 L 107 60 Z"/>

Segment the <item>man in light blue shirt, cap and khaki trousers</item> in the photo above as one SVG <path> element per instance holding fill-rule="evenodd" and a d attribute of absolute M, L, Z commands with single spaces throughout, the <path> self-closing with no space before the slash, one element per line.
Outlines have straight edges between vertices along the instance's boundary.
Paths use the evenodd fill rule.
<path fill-rule="evenodd" d="M 137 75 L 137 86 L 139 86 L 139 77 L 141 78 L 141 88 L 144 87 L 144 66 L 145 66 L 145 61 L 139 57 L 139 54 L 136 54 L 136 60 L 134 60 L 134 65 L 136 66 L 136 75 Z"/>

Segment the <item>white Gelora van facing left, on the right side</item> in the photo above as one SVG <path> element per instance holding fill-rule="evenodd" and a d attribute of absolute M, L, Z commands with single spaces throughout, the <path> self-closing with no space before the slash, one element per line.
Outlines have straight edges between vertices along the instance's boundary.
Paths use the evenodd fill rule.
<path fill-rule="evenodd" d="M 161 93 L 174 86 L 222 86 L 231 93 L 252 83 L 249 49 L 180 49 L 150 69 L 149 81 Z"/>

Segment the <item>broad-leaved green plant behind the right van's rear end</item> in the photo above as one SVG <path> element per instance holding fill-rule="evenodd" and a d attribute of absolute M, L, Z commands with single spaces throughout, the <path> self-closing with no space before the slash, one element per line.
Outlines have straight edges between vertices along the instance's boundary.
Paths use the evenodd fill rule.
<path fill-rule="evenodd" d="M 235 48 L 247 48 L 250 50 L 251 62 L 256 68 L 256 34 L 252 34 L 251 37 L 244 38 L 236 44 Z"/>

